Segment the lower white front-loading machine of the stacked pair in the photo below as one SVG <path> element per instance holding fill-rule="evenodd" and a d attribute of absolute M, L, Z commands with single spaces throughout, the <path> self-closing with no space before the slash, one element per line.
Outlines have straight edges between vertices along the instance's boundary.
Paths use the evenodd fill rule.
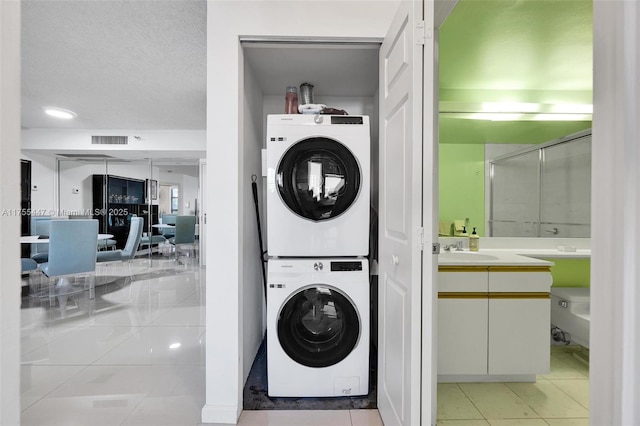
<path fill-rule="evenodd" d="M 272 397 L 369 392 L 367 259 L 270 259 L 267 381 Z"/>

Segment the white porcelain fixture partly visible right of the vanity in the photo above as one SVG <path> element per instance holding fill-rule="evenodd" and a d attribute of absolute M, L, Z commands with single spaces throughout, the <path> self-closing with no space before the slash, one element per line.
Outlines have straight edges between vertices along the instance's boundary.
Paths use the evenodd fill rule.
<path fill-rule="evenodd" d="M 589 288 L 551 287 L 551 326 L 569 333 L 571 343 L 589 347 Z"/>

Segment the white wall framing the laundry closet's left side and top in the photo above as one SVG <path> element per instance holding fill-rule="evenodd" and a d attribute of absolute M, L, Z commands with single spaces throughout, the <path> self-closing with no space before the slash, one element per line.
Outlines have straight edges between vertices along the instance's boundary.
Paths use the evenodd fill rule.
<path fill-rule="evenodd" d="M 245 144 L 255 145 L 253 149 L 261 144 L 245 138 L 244 104 L 250 100 L 244 93 L 239 39 L 242 36 L 382 38 L 397 7 L 394 0 L 340 2 L 339 8 L 336 4 L 256 1 L 250 4 L 252 13 L 248 14 L 246 2 L 208 2 L 207 188 L 212 196 L 207 199 L 207 240 L 220 243 L 209 244 L 206 259 L 209 291 L 203 422 L 237 421 L 242 409 L 245 358 L 252 359 L 252 348 L 244 348 L 245 265 L 241 245 L 256 245 L 251 238 L 245 238 L 245 223 L 255 220 L 253 206 L 245 198 L 247 182 L 254 171 L 246 169 L 251 166 L 245 163 L 244 156 Z"/>

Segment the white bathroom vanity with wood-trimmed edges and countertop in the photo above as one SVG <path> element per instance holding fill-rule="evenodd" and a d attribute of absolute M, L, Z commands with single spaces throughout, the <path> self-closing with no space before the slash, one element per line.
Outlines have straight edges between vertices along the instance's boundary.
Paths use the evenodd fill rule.
<path fill-rule="evenodd" d="M 549 372 L 552 262 L 445 252 L 438 267 L 438 381 L 535 381 Z"/>

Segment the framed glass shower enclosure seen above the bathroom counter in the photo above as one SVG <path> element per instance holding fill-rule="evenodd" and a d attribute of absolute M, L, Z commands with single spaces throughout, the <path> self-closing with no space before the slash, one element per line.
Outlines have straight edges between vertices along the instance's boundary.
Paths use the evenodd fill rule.
<path fill-rule="evenodd" d="M 591 131 L 490 162 L 489 236 L 589 237 Z"/>

